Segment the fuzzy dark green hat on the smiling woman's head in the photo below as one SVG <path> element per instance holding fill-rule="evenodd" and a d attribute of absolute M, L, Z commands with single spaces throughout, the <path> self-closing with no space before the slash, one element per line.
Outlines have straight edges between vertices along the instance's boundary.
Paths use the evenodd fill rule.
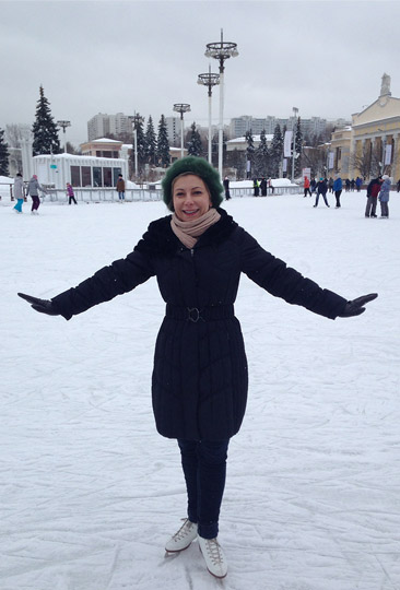
<path fill-rule="evenodd" d="M 221 185 L 219 173 L 203 157 L 187 156 L 177 160 L 169 166 L 161 182 L 163 187 L 163 200 L 169 211 L 174 211 L 173 182 L 181 174 L 195 174 L 199 176 L 210 191 L 212 205 L 215 208 L 220 206 L 223 201 L 222 193 L 224 189 Z"/>

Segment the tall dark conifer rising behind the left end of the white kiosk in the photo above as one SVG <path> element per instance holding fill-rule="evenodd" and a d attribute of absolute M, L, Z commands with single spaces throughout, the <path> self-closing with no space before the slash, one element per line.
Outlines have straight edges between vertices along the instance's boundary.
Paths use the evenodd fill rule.
<path fill-rule="evenodd" d="M 32 132 L 34 134 L 33 155 L 60 153 L 58 128 L 51 116 L 50 104 L 45 96 L 42 85 Z"/>

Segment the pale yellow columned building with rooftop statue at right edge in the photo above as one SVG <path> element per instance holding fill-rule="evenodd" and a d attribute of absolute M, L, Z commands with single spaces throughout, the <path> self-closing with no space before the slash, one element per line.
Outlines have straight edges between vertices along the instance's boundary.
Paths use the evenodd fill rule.
<path fill-rule="evenodd" d="M 352 115 L 351 127 L 332 133 L 331 150 L 333 170 L 343 178 L 400 178 L 400 98 L 391 96 L 388 74 L 381 78 L 378 98 Z"/>

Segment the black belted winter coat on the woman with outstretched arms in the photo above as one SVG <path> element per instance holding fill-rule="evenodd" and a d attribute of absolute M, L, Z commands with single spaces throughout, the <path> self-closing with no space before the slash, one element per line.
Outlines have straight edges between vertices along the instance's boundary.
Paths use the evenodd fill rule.
<path fill-rule="evenodd" d="M 226 439 L 240 427 L 248 378 L 233 304 L 242 272 L 272 295 L 331 319 L 346 303 L 287 268 L 219 212 L 221 220 L 191 250 L 173 233 L 170 215 L 152 222 L 127 258 L 52 299 L 70 319 L 156 275 L 167 315 L 155 345 L 152 399 L 157 430 L 168 438 Z"/>

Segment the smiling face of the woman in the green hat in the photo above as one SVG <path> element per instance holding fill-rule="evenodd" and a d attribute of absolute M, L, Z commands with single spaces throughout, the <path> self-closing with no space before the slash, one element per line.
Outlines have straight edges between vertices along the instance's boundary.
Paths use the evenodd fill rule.
<path fill-rule="evenodd" d="M 175 214 L 180 221 L 197 220 L 212 205 L 209 189 L 195 174 L 187 174 L 175 180 L 173 203 Z"/>

